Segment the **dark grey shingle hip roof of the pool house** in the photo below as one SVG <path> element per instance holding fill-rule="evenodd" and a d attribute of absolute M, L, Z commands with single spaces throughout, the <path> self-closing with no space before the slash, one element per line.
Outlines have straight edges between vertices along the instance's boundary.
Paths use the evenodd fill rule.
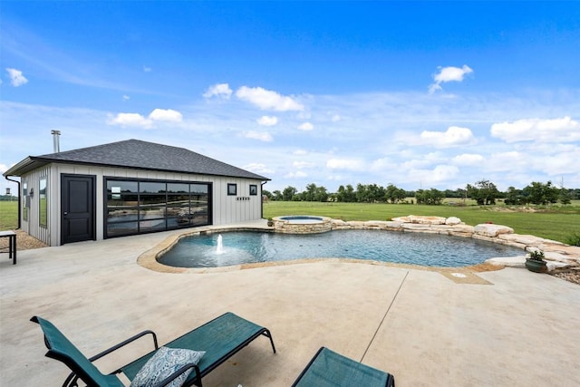
<path fill-rule="evenodd" d="M 141 140 L 123 140 L 95 147 L 78 150 L 67 150 L 60 153 L 50 153 L 43 156 L 31 156 L 29 162 L 16 164 L 5 172 L 16 175 L 30 170 L 32 164 L 47 162 L 65 162 L 100 165 L 103 167 L 118 167 L 131 169 L 151 169 L 179 173 L 195 173 L 200 175 L 227 176 L 269 180 L 245 169 L 234 167 L 218 160 L 208 158 L 185 148 L 171 147 Z M 20 166 L 20 168 L 18 168 Z M 20 172 L 20 173 L 18 173 Z"/>

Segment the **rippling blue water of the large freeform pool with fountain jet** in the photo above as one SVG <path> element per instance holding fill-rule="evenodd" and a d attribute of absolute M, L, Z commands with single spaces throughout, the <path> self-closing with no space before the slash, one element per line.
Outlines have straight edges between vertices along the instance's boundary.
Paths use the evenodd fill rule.
<path fill-rule="evenodd" d="M 334 230 L 323 234 L 280 234 L 253 231 L 184 237 L 159 257 L 178 267 L 221 267 L 302 258 L 355 258 L 420 266 L 470 266 L 496 256 L 523 251 L 478 239 L 378 230 Z"/>

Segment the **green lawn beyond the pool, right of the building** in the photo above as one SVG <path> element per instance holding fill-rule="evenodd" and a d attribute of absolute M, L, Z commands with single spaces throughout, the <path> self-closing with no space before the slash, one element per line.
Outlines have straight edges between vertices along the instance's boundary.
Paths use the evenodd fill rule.
<path fill-rule="evenodd" d="M 264 218 L 283 215 L 318 215 L 343 220 L 391 220 L 408 215 L 457 217 L 468 225 L 492 222 L 514 228 L 517 234 L 530 234 L 565 242 L 580 234 L 580 202 L 554 207 L 540 212 L 509 210 L 504 205 L 479 206 L 419 206 L 385 203 L 319 203 L 300 201 L 270 201 L 264 204 Z"/>

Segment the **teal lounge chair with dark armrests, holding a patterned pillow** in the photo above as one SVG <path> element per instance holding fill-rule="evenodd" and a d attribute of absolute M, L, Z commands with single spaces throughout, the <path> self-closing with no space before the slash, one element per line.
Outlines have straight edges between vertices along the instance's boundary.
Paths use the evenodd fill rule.
<path fill-rule="evenodd" d="M 31 321 L 40 324 L 43 329 L 44 343 L 49 350 L 46 356 L 63 362 L 73 371 L 64 381 L 63 387 L 78 385 L 78 379 L 81 379 L 88 386 L 123 386 L 124 384 L 118 376 L 119 373 L 122 372 L 130 381 L 133 381 L 145 363 L 148 363 L 150 358 L 160 351 L 157 343 L 157 335 L 152 331 L 143 331 L 112 346 L 102 353 L 98 353 L 91 358 L 86 358 L 49 321 L 38 316 L 34 316 Z M 93 361 L 102 358 L 104 355 L 112 353 L 148 334 L 152 336 L 155 349 L 139 359 L 120 367 L 110 374 L 103 374 L 92 364 Z M 179 368 L 177 371 L 171 373 L 165 380 L 156 385 L 167 385 L 169 382 L 178 378 L 183 372 L 193 370 L 189 373 L 183 385 L 191 386 L 195 384 L 201 387 L 201 379 L 204 376 L 261 335 L 270 339 L 272 350 L 275 353 L 272 334 L 266 328 L 251 323 L 233 313 L 222 314 L 214 320 L 199 326 L 188 334 L 184 334 L 161 347 L 162 349 L 169 347 L 199 352 L 203 351 L 205 354 L 203 354 L 197 364 L 184 363 L 182 366 L 176 367 Z"/>

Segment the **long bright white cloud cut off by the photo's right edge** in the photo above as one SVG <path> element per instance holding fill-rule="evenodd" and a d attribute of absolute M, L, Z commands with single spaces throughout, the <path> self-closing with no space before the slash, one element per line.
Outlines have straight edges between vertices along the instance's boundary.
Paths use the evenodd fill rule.
<path fill-rule="evenodd" d="M 580 140 L 580 122 L 569 116 L 553 120 L 524 119 L 491 125 L 491 135 L 507 142 L 572 142 Z"/>

